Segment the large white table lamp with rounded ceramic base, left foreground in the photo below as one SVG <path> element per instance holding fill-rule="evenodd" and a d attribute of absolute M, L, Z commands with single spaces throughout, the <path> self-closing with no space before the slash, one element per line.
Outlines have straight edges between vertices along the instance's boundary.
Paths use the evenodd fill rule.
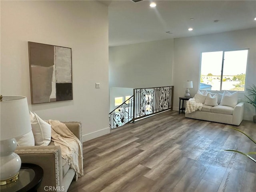
<path fill-rule="evenodd" d="M 24 96 L 0 97 L 0 185 L 18 179 L 21 160 L 14 153 L 15 138 L 31 130 L 27 98 Z"/>

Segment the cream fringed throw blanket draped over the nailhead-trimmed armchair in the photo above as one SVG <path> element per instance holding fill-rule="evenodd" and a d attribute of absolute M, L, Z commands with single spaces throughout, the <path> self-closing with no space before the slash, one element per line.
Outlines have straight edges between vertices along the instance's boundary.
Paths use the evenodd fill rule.
<path fill-rule="evenodd" d="M 52 141 L 61 148 L 62 158 L 76 171 L 76 180 L 84 175 L 83 152 L 80 140 L 58 120 L 48 120 L 52 126 Z"/>

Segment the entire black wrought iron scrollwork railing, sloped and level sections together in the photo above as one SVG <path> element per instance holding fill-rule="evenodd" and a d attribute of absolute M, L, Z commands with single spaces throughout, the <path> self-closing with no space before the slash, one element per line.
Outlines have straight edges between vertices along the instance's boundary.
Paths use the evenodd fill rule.
<path fill-rule="evenodd" d="M 110 129 L 172 110 L 173 89 L 173 86 L 134 89 L 133 96 L 109 113 Z"/>

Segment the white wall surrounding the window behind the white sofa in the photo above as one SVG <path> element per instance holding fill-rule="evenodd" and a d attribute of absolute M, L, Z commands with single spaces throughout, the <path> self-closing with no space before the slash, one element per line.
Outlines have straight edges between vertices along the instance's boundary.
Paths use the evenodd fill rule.
<path fill-rule="evenodd" d="M 246 71 L 247 88 L 256 84 L 256 28 L 174 39 L 174 110 L 178 110 L 179 97 L 184 95 L 184 81 L 193 81 L 193 88 L 190 89 L 192 96 L 198 90 L 201 52 L 243 48 L 250 49 Z M 239 97 L 244 98 L 244 94 L 240 93 Z M 255 109 L 246 104 L 244 119 L 252 120 L 254 114 Z"/>

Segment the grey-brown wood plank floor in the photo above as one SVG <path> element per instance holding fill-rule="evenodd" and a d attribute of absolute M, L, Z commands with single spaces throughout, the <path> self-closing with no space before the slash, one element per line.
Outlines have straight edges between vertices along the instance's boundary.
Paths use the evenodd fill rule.
<path fill-rule="evenodd" d="M 256 192 L 256 124 L 185 118 L 168 111 L 84 142 L 84 176 L 68 192 Z M 217 151 L 217 152 L 216 152 Z M 255 157 L 255 156 L 254 156 Z"/>

